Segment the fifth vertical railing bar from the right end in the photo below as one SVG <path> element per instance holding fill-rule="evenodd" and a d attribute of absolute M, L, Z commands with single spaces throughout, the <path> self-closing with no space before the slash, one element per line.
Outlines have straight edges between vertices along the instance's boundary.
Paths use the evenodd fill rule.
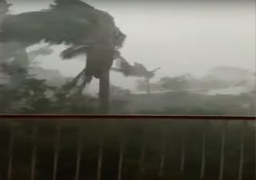
<path fill-rule="evenodd" d="M 163 175 L 163 169 L 166 162 L 166 130 L 162 130 L 161 140 L 160 140 L 160 166 L 158 171 L 158 178 Z"/>

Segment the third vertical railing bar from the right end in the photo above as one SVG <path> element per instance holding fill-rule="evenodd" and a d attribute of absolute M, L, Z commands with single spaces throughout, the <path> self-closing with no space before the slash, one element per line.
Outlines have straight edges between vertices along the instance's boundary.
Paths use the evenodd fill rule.
<path fill-rule="evenodd" d="M 200 170 L 200 180 L 202 180 L 205 176 L 206 169 L 206 134 L 208 130 L 209 123 L 206 122 L 204 129 L 202 131 L 202 162 L 201 162 L 201 170 Z"/>

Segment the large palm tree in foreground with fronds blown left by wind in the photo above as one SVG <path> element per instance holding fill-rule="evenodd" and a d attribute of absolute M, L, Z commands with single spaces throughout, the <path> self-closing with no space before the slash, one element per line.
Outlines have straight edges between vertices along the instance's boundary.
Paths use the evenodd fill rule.
<path fill-rule="evenodd" d="M 97 10 L 80 0 L 55 0 L 48 10 L 9 15 L 2 22 L 0 41 L 21 42 L 31 46 L 44 41 L 50 44 L 65 43 L 70 47 L 62 52 L 63 58 L 86 54 L 86 67 L 81 76 L 84 85 L 99 78 L 99 110 L 109 112 L 109 70 L 114 51 L 126 38 L 114 24 L 110 14 Z"/>

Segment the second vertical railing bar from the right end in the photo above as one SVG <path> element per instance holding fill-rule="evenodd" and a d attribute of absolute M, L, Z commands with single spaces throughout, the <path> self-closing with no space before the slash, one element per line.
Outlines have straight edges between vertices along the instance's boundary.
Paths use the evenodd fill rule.
<path fill-rule="evenodd" d="M 223 179 L 223 171 L 224 171 L 224 164 L 225 164 L 226 129 L 227 129 L 227 122 L 225 121 L 222 128 L 222 149 L 221 149 L 221 162 L 219 167 L 218 180 Z"/>

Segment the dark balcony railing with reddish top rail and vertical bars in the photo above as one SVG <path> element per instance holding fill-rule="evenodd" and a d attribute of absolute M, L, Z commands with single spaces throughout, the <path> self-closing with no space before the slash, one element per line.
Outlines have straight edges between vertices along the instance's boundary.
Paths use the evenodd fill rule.
<path fill-rule="evenodd" d="M 253 180 L 254 117 L 1 115 L 3 180 Z"/>

